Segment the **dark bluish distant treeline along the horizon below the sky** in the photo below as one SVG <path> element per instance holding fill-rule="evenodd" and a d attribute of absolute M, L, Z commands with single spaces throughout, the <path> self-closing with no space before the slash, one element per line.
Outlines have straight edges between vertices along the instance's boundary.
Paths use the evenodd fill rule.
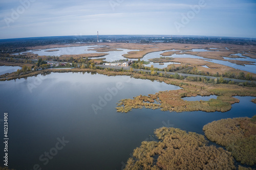
<path fill-rule="evenodd" d="M 164 38 L 163 38 L 164 37 Z M 227 44 L 250 44 L 256 45 L 256 39 L 249 38 L 233 38 L 233 37 L 176 37 L 170 35 L 100 35 L 103 42 L 165 42 L 165 43 L 191 43 L 191 44 L 206 44 L 206 43 L 227 43 Z M 58 36 L 58 37 L 33 37 L 33 38 L 14 38 L 0 40 L 1 53 L 8 53 L 5 48 L 19 48 L 37 45 L 49 44 L 67 44 L 67 43 L 86 43 L 97 42 L 97 35 L 91 36 Z M 17 51 L 16 51 L 17 52 Z"/>

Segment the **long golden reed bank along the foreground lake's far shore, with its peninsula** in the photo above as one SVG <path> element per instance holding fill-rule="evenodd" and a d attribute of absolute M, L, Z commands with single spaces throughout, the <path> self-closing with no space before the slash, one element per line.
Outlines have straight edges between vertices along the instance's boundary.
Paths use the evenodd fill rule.
<path fill-rule="evenodd" d="M 118 103 L 116 108 L 118 112 L 129 112 L 133 108 L 151 108 L 161 109 L 163 111 L 206 111 L 225 112 L 231 109 L 231 104 L 238 103 L 239 100 L 232 96 L 256 96 L 255 87 L 243 87 L 232 84 L 211 84 L 205 82 L 193 82 L 188 80 L 179 80 L 166 77 L 145 75 L 136 72 L 115 71 L 109 69 L 96 68 L 73 68 L 73 69 L 44 69 L 39 71 L 22 72 L 18 74 L 13 72 L 10 75 L 1 76 L 0 81 L 8 81 L 14 79 L 21 79 L 36 76 L 39 74 L 50 74 L 51 72 L 97 72 L 98 74 L 107 76 L 131 76 L 137 79 L 148 79 L 165 82 L 181 87 L 180 90 L 161 91 L 156 94 L 149 94 L 148 96 L 137 96 L 134 99 L 124 99 Z M 184 101 L 182 98 L 186 96 L 208 96 L 218 95 L 217 99 L 210 99 L 209 101 Z M 148 103 L 149 102 L 149 103 Z M 156 104 L 155 102 L 160 102 Z"/>

